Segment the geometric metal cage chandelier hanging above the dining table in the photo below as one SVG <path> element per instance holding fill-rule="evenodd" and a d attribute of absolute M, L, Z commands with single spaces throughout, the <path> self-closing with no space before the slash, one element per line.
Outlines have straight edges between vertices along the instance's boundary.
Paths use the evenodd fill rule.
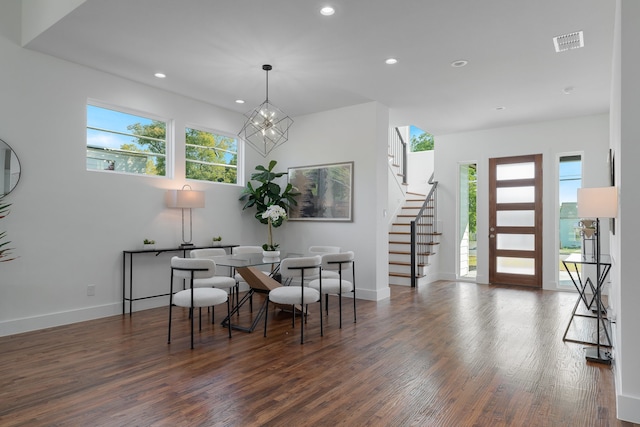
<path fill-rule="evenodd" d="M 269 64 L 262 66 L 267 74 L 266 99 L 262 104 L 245 114 L 247 121 L 238 133 L 238 136 L 263 157 L 267 157 L 274 148 L 287 142 L 289 128 L 293 124 L 291 117 L 269 102 L 269 71 L 272 68 Z"/>

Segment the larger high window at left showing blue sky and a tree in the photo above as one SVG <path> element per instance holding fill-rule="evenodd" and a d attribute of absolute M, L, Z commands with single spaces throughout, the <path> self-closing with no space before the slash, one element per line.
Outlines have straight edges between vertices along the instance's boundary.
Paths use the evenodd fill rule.
<path fill-rule="evenodd" d="M 87 170 L 168 176 L 170 121 L 87 102 Z"/>

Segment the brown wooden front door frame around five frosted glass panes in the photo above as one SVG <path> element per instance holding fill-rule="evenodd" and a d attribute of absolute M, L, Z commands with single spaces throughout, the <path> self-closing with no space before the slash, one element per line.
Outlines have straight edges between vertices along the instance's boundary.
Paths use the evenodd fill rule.
<path fill-rule="evenodd" d="M 501 164 L 533 162 L 535 175 L 530 179 L 514 179 L 497 181 L 496 168 Z M 489 283 L 533 286 L 542 289 L 542 154 L 524 156 L 497 157 L 489 159 Z M 535 188 L 533 203 L 497 203 L 498 188 L 532 186 Z M 533 210 L 535 219 L 533 227 L 497 227 L 498 210 Z M 534 250 L 499 250 L 496 238 L 491 235 L 503 234 L 533 234 Z M 497 258 L 518 257 L 534 260 L 534 274 L 512 274 L 497 272 Z"/>

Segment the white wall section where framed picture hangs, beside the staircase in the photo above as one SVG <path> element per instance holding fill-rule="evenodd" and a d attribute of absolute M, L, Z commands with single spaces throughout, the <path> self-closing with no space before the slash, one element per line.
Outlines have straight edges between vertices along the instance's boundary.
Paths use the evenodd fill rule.
<path fill-rule="evenodd" d="M 293 252 L 304 253 L 311 245 L 353 250 L 358 298 L 370 300 L 389 297 L 388 228 L 383 215 L 387 117 L 386 108 L 375 102 L 296 117 L 289 142 L 272 153 L 278 170 L 354 162 L 353 222 L 288 221 L 275 229 L 275 238 Z"/>

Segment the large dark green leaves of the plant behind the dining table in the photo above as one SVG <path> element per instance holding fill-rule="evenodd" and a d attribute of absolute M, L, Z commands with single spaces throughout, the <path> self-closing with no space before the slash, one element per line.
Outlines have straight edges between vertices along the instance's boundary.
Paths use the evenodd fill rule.
<path fill-rule="evenodd" d="M 240 194 L 240 200 L 245 204 L 242 210 L 256 207 L 256 219 L 262 224 L 268 224 L 267 218 L 262 218 L 262 214 L 271 205 L 281 206 L 284 210 L 288 210 L 289 206 L 295 206 L 298 204 L 295 197 L 298 193 L 291 183 L 287 183 L 284 190 L 275 182 L 275 179 L 286 175 L 286 172 L 273 172 L 273 168 L 276 167 L 276 161 L 271 160 L 269 166 L 265 168 L 262 165 L 256 166 L 256 171 L 251 175 L 251 180 L 257 181 L 260 185 L 254 186 L 251 181 L 247 182 L 247 186 Z M 280 218 L 277 221 L 272 222 L 274 227 L 279 227 L 284 222 L 285 218 Z"/>

